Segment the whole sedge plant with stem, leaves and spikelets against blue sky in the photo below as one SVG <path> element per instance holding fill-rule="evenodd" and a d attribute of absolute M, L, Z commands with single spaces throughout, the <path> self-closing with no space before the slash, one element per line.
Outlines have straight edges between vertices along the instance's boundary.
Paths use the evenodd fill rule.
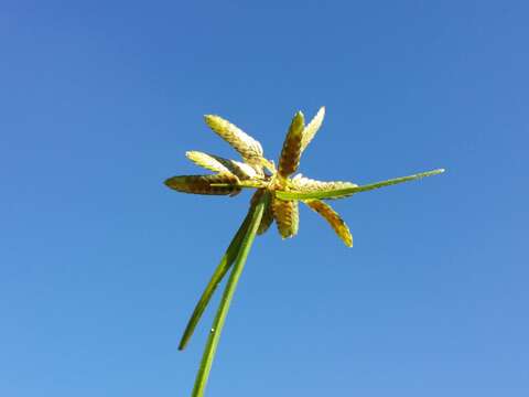
<path fill-rule="evenodd" d="M 302 153 L 322 126 L 324 116 L 325 108 L 322 107 L 305 125 L 303 114 L 298 111 L 290 124 L 276 164 L 272 160 L 264 158 L 262 147 L 256 139 L 219 116 L 206 115 L 206 124 L 240 154 L 242 161 L 223 159 L 199 151 L 188 151 L 186 157 L 191 161 L 213 173 L 173 176 L 165 181 L 165 185 L 175 191 L 194 194 L 234 196 L 242 189 L 256 190 L 242 224 L 196 303 L 180 341 L 179 350 L 185 348 L 215 290 L 229 272 L 196 375 L 193 397 L 204 396 L 223 325 L 248 253 L 257 235 L 262 235 L 276 222 L 282 238 L 295 236 L 299 227 L 299 203 L 301 202 L 320 214 L 342 242 L 347 247 L 352 247 L 353 236 L 349 228 L 327 201 L 444 172 L 443 169 L 438 169 L 366 185 L 342 181 L 317 181 L 300 173 L 292 176 L 299 168 Z"/>

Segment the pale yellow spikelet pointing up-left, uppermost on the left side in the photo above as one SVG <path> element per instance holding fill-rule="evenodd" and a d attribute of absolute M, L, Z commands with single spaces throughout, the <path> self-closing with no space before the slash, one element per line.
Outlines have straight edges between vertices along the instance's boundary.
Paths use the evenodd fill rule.
<path fill-rule="evenodd" d="M 261 143 L 219 116 L 205 115 L 204 118 L 209 128 L 237 150 L 248 163 L 253 165 L 260 162 L 262 158 Z"/>

